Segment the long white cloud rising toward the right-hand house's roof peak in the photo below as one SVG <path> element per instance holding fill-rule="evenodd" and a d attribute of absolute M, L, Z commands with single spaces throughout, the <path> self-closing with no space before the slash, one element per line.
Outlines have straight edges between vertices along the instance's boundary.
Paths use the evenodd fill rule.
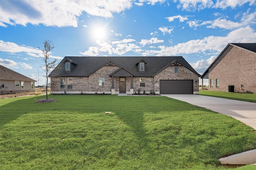
<path fill-rule="evenodd" d="M 209 36 L 203 39 L 190 40 L 186 43 L 178 43 L 170 47 L 158 46 L 160 50 L 145 50 L 142 55 L 170 56 L 206 52 L 211 54 L 221 52 L 228 43 L 254 43 L 255 41 L 256 32 L 250 26 L 247 26 L 231 31 L 226 37 Z"/>

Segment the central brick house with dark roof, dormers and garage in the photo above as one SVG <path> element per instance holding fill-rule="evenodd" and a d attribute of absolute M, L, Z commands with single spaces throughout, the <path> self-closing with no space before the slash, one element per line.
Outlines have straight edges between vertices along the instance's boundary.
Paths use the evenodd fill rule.
<path fill-rule="evenodd" d="M 65 57 L 51 94 L 198 94 L 199 76 L 179 57 Z"/>

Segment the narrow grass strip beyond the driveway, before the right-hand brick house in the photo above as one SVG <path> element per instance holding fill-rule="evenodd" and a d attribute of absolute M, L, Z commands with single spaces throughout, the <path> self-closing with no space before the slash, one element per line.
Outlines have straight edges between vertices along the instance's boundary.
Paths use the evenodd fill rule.
<path fill-rule="evenodd" d="M 199 90 L 199 94 L 205 95 L 205 96 L 213 96 L 218 98 L 226 98 L 226 99 L 241 100 L 245 102 L 256 103 L 256 93 L 231 93 L 231 92 Z"/>

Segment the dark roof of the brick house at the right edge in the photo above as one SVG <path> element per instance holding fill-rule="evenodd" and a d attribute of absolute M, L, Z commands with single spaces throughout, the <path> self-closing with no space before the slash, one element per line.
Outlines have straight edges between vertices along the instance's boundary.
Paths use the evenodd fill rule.
<path fill-rule="evenodd" d="M 226 50 L 226 48 L 229 45 L 244 49 L 246 51 L 250 51 L 251 53 L 256 53 L 256 43 L 229 43 L 224 48 L 224 50 L 220 53 L 220 55 L 218 55 L 218 57 L 212 62 L 212 64 L 214 64 L 214 62 L 222 55 L 222 53 Z M 202 74 L 201 78 L 208 78 L 209 68 L 212 66 L 212 64 L 205 70 L 205 72 Z"/>

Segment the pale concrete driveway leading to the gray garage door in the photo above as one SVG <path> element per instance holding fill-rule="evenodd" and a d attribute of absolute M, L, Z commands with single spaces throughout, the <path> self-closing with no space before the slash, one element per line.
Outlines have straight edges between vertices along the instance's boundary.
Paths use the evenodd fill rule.
<path fill-rule="evenodd" d="M 229 115 L 256 129 L 256 103 L 215 98 L 196 94 L 161 94 L 192 105 Z"/>

